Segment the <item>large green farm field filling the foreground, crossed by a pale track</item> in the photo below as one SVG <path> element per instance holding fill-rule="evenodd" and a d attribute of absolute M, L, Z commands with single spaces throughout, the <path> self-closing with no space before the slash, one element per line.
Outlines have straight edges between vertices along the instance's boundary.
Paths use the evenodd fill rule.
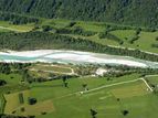
<path fill-rule="evenodd" d="M 91 109 L 94 109 L 98 118 L 157 118 L 152 110 L 158 110 L 158 96 L 148 89 L 139 76 L 130 74 L 110 79 L 74 77 L 66 79 L 65 87 L 63 79 L 27 84 L 21 82 L 19 74 L 1 74 L 8 85 L 1 87 L 0 99 L 1 103 L 4 100 L 3 112 L 13 116 L 91 118 Z M 30 105 L 30 98 L 35 98 L 36 103 Z"/>

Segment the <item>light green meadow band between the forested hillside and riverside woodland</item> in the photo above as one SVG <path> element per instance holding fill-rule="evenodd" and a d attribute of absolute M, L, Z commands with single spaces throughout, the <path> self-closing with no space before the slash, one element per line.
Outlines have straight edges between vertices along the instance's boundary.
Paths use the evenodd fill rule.
<path fill-rule="evenodd" d="M 156 32 L 145 32 L 141 31 L 138 35 L 139 39 L 135 41 L 133 44 L 129 43 L 129 41 L 135 36 L 136 30 L 134 28 L 130 28 L 133 30 L 114 30 L 109 33 L 119 37 L 124 43 L 120 45 L 118 42 L 112 40 L 112 39 L 99 39 L 98 34 L 101 32 L 106 31 L 106 25 L 118 25 L 124 26 L 119 24 L 110 24 L 110 23 L 104 23 L 104 22 L 84 22 L 84 21 L 70 21 L 70 20 L 63 20 L 63 19 L 40 19 L 41 21 L 38 24 L 31 23 L 31 24 L 22 24 L 22 25 L 14 25 L 10 24 L 6 21 L 0 21 L 0 26 L 4 26 L 7 29 L 3 29 L 3 31 L 15 31 L 15 32 L 29 32 L 34 29 L 34 26 L 39 26 L 36 29 L 38 31 L 42 31 L 43 25 L 50 25 L 52 28 L 52 31 L 55 29 L 69 29 L 74 30 L 76 28 L 81 28 L 84 31 L 88 32 L 95 32 L 95 35 L 92 36 L 83 36 L 78 34 L 64 34 L 70 35 L 73 37 L 82 37 L 85 40 L 91 40 L 96 43 L 101 43 L 104 45 L 112 45 L 112 46 L 118 46 L 118 47 L 128 47 L 128 49 L 139 49 L 141 51 L 158 53 L 157 47 L 152 47 L 152 44 L 158 44 L 156 41 L 156 37 L 158 37 L 158 31 Z M 69 26 L 71 22 L 75 22 L 73 26 Z M 144 28 L 143 28 L 144 29 Z M 2 29 L 0 30 L 2 31 Z M 50 31 L 51 32 L 51 31 Z"/>

